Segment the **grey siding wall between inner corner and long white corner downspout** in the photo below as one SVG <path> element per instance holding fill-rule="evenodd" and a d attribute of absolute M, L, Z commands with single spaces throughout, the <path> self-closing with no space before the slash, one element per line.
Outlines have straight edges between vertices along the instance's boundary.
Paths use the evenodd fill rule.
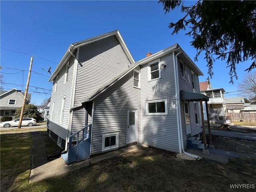
<path fill-rule="evenodd" d="M 161 64 L 166 65 L 162 67 Z M 172 54 L 159 60 L 161 78 L 148 81 L 148 64 L 141 66 L 141 112 L 138 142 L 179 152 Z M 146 115 L 146 101 L 167 99 L 168 115 Z"/>

